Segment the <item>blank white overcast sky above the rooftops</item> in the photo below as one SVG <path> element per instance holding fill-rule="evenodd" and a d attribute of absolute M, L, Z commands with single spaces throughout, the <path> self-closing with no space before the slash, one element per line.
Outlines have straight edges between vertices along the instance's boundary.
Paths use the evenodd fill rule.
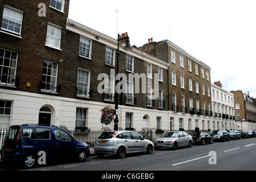
<path fill-rule="evenodd" d="M 112 38 L 128 32 L 132 46 L 171 40 L 212 68 L 211 82 L 256 97 L 255 0 L 70 1 L 72 20 Z"/>

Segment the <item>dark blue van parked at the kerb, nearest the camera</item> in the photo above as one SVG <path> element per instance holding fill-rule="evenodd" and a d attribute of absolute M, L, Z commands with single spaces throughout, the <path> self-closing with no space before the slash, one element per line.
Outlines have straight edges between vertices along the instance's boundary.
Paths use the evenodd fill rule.
<path fill-rule="evenodd" d="M 84 162 L 90 150 L 86 143 L 57 126 L 26 124 L 9 127 L 1 150 L 3 162 L 18 162 L 31 168 L 38 164 L 42 154 L 46 161 L 73 158 Z"/>

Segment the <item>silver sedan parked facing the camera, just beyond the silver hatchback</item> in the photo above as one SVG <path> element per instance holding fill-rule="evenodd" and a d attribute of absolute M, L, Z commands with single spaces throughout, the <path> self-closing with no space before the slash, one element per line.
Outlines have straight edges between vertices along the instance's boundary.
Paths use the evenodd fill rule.
<path fill-rule="evenodd" d="M 155 148 L 173 148 L 181 146 L 192 146 L 192 136 L 184 131 L 169 131 L 162 138 L 154 141 Z"/>

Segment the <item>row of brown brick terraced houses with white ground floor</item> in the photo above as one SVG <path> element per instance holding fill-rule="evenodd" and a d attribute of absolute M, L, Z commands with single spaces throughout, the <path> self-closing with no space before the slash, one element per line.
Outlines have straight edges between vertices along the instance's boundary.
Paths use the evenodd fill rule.
<path fill-rule="evenodd" d="M 0 128 L 101 129 L 100 110 L 115 104 L 118 40 L 68 13 L 69 0 L 0 2 Z M 216 129 L 223 118 L 213 115 L 210 67 L 169 40 L 126 52 L 127 36 L 119 37 L 119 128 Z"/>

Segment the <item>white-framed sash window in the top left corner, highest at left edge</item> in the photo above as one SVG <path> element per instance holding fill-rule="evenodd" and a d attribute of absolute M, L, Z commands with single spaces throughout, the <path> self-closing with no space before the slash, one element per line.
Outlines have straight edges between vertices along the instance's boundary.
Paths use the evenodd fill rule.
<path fill-rule="evenodd" d="M 9 14 L 8 14 L 9 13 Z M 13 15 L 11 15 L 13 14 Z M 15 14 L 15 15 L 14 15 Z M 18 17 L 20 15 L 20 17 Z M 11 16 L 11 17 L 10 17 Z M 3 21 L 6 20 L 7 21 L 7 28 L 3 28 Z M 10 25 L 11 24 L 13 25 Z M 1 24 L 1 32 L 10 32 L 10 35 L 18 35 L 19 38 L 21 35 L 21 31 L 22 31 L 22 22 L 23 22 L 23 11 L 14 9 L 13 7 L 7 6 L 5 5 L 3 7 L 3 16 L 2 16 L 2 24 Z M 6 23 L 5 23 L 6 24 Z M 19 32 L 15 31 L 15 24 L 19 24 Z M 14 26 L 14 30 L 9 30 L 8 27 L 9 26 Z"/>

